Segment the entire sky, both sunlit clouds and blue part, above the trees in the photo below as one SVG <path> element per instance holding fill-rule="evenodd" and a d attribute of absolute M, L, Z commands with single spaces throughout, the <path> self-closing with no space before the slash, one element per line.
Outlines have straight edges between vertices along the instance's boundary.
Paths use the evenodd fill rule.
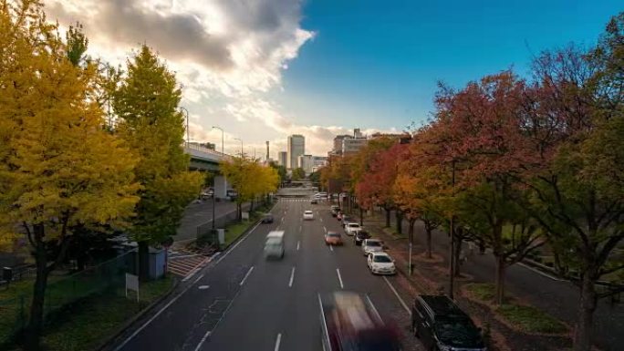
<path fill-rule="evenodd" d="M 147 43 L 176 73 L 192 141 L 271 156 L 289 134 L 325 155 L 336 134 L 426 120 L 456 87 L 570 41 L 591 45 L 616 1 L 45 0 L 85 26 L 89 55 L 124 63 Z M 547 4 L 546 4 L 547 3 Z M 597 4 L 599 3 L 599 4 Z M 465 5 L 471 4 L 471 5 Z M 475 5 L 476 4 L 476 5 Z"/>

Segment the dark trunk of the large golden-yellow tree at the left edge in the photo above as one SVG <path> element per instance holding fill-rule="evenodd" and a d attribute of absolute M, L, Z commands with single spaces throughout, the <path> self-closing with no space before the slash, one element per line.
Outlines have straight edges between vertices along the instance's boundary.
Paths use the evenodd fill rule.
<path fill-rule="evenodd" d="M 30 305 L 30 318 L 26 327 L 26 351 L 39 350 L 39 340 L 43 329 L 44 302 L 47 288 L 47 252 L 46 244 L 43 242 L 44 226 L 36 224 L 33 226 L 35 232 L 35 261 L 36 278 L 33 286 L 33 299 Z"/>

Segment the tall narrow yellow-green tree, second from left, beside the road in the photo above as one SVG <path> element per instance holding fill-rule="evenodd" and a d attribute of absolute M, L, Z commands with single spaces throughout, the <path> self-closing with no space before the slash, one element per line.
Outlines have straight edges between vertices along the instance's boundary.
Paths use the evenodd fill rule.
<path fill-rule="evenodd" d="M 145 45 L 127 66 L 112 93 L 115 132 L 140 156 L 135 169 L 140 201 L 130 232 L 139 243 L 140 278 L 145 280 L 149 245 L 175 235 L 185 207 L 201 190 L 203 176 L 188 170 L 190 159 L 182 149 L 184 117 L 178 109 L 181 90 L 175 76 Z"/>

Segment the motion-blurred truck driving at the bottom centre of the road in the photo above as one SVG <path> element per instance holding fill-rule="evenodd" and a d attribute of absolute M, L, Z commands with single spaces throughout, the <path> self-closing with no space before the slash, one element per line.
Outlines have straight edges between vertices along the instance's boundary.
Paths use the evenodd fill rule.
<path fill-rule="evenodd" d="M 318 294 L 318 304 L 324 351 L 400 351 L 399 333 L 383 322 L 368 295 Z"/>

